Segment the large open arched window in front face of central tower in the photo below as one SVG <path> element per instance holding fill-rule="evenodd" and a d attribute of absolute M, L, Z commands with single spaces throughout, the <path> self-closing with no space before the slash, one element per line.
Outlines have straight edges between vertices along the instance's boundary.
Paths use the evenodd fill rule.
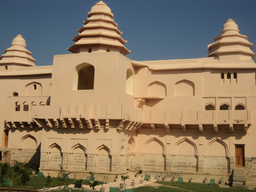
<path fill-rule="evenodd" d="M 82 63 L 74 69 L 73 90 L 94 89 L 94 66 Z"/>

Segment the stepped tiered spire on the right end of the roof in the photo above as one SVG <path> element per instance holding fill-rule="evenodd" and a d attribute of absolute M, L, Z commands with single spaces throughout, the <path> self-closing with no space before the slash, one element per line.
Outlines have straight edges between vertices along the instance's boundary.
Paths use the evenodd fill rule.
<path fill-rule="evenodd" d="M 208 57 L 217 56 L 220 60 L 229 60 L 230 55 L 236 60 L 254 59 L 253 44 L 248 42 L 247 36 L 241 35 L 237 24 L 228 19 L 223 25 L 222 35 L 214 38 L 208 45 Z"/>

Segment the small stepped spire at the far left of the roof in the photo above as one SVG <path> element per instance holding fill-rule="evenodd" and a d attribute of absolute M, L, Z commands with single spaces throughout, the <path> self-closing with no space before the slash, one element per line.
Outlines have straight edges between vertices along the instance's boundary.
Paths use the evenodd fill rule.
<path fill-rule="evenodd" d="M 6 54 L 0 57 L 0 65 L 16 64 L 21 66 L 36 66 L 31 52 L 26 49 L 26 41 L 21 35 L 17 35 L 12 41 L 11 47 L 5 50 Z"/>

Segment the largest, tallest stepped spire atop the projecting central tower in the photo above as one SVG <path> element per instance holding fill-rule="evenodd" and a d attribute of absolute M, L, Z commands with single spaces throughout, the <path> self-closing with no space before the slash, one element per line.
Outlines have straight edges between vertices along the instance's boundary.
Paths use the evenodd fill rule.
<path fill-rule="evenodd" d="M 110 8 L 102 1 L 96 3 L 84 26 L 78 30 L 78 35 L 72 40 L 75 42 L 68 51 L 80 52 L 120 52 L 123 55 L 130 53 L 124 46 L 127 41 L 122 37 L 117 23 L 112 19 Z"/>

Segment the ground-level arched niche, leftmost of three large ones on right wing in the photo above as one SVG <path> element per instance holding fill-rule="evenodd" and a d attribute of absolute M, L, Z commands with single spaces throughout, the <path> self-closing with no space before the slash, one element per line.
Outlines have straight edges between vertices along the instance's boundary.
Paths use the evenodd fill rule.
<path fill-rule="evenodd" d="M 166 170 L 166 156 L 164 144 L 157 138 L 151 138 L 143 145 L 143 170 Z"/>

